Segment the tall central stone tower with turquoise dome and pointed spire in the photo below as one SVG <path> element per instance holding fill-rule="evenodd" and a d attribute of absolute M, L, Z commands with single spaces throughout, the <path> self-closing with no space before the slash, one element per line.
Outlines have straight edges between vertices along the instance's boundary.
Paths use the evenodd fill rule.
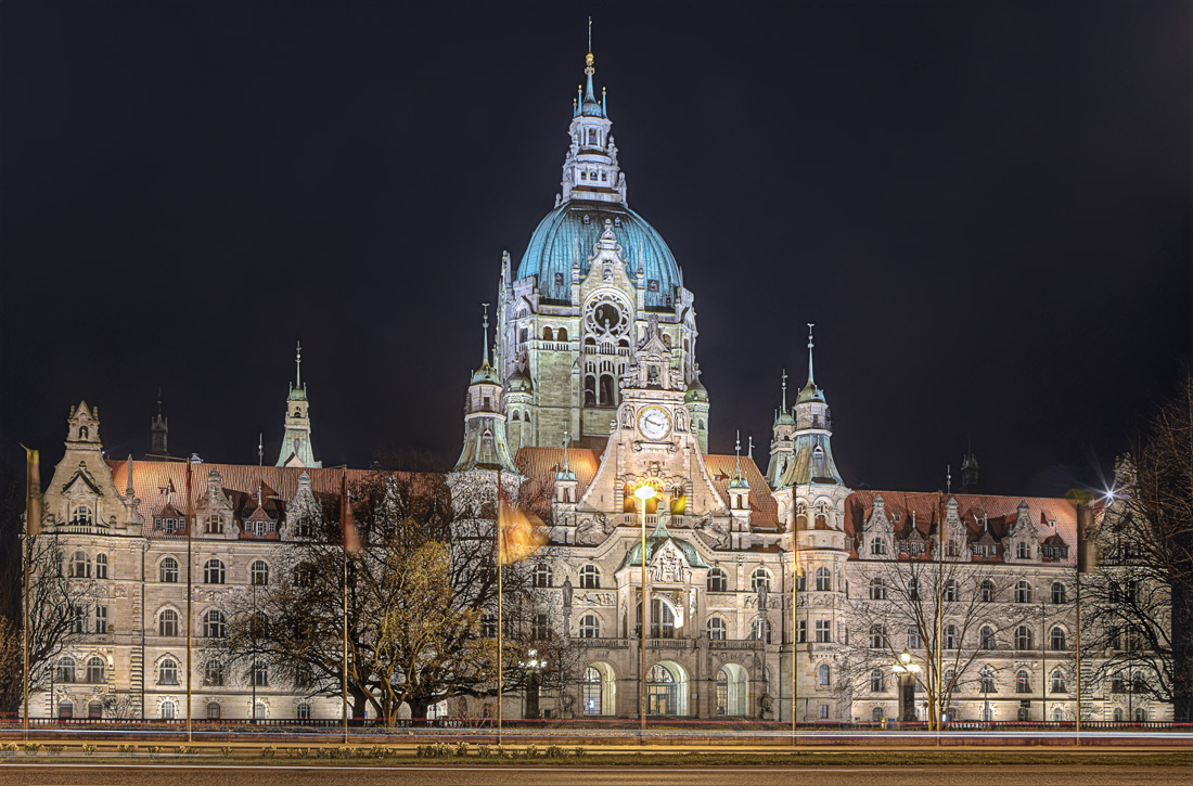
<path fill-rule="evenodd" d="M 494 371 L 519 446 L 557 446 L 564 434 L 605 439 L 622 377 L 657 320 L 685 384 L 696 380 L 696 311 L 662 236 L 626 204 L 605 91 L 585 57 L 568 126 L 560 193 L 515 265 L 502 256 Z M 707 433 L 707 401 L 693 402 Z"/>

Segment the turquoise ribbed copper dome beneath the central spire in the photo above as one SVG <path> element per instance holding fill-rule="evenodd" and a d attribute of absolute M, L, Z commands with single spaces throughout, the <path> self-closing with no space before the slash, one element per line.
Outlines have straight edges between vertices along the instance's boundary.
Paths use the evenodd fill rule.
<path fill-rule="evenodd" d="M 613 235 L 622 246 L 622 256 L 631 278 L 637 278 L 641 250 L 647 278 L 647 308 L 674 309 L 675 287 L 680 281 L 679 266 L 670 248 L 642 216 L 612 202 L 571 199 L 546 213 L 531 235 L 518 265 L 518 278 L 537 276 L 544 299 L 570 302 L 571 262 L 579 256 L 580 274 L 588 274 L 588 258 L 605 229 L 606 218 L 612 222 Z"/>

